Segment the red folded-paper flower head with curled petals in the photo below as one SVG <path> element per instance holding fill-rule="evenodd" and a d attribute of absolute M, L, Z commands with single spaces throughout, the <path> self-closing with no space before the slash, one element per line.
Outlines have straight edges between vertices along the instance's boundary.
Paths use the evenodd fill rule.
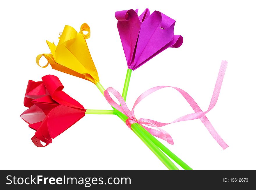
<path fill-rule="evenodd" d="M 59 78 L 54 75 L 46 75 L 39 82 L 29 80 L 24 98 L 24 106 L 29 109 L 20 117 L 36 130 L 31 140 L 37 147 L 47 146 L 52 138 L 85 115 L 86 109 L 63 92 L 63 88 Z"/>

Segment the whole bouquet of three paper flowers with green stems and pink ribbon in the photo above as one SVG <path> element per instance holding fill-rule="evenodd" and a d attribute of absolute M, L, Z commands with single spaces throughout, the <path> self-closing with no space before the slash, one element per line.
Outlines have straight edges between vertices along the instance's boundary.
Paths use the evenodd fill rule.
<path fill-rule="evenodd" d="M 184 169 L 191 169 L 191 167 L 157 140 L 157 138 L 161 138 L 173 145 L 173 138 L 161 129 L 162 126 L 185 120 L 200 119 L 218 144 L 223 149 L 227 148 L 228 145 L 205 116 L 217 102 L 227 62 L 222 61 L 221 63 L 214 92 L 206 111 L 202 111 L 194 99 L 184 90 L 171 86 L 157 86 L 147 90 L 137 98 L 130 110 L 125 101 L 131 72 L 168 47 L 180 47 L 183 38 L 174 34 L 175 20 L 159 11 L 150 14 L 149 10 L 146 9 L 138 16 L 138 10 L 124 10 L 116 12 L 115 17 L 118 20 L 117 28 L 128 65 L 122 96 L 112 87 L 105 90 L 99 83 L 98 73 L 86 43 L 86 39 L 90 37 L 90 27 L 84 23 L 77 32 L 71 26 L 66 25 L 63 32 L 60 33 L 57 45 L 47 41 L 51 53 L 38 55 L 36 63 L 39 65 L 39 59 L 44 56 L 48 61 L 47 65 L 39 65 L 40 67 L 47 67 L 50 64 L 55 70 L 94 83 L 104 95 L 106 101 L 112 106 L 112 109 L 85 109 L 83 105 L 63 92 L 64 87 L 57 76 L 46 75 L 39 82 L 30 80 L 24 98 L 24 106 L 28 109 L 21 114 L 21 118 L 29 124 L 31 129 L 35 130 L 32 142 L 37 147 L 49 145 L 53 138 L 67 130 L 85 114 L 114 114 L 125 122 L 129 129 L 150 148 L 168 169 L 178 169 L 170 158 Z M 83 31 L 88 33 L 84 34 Z M 182 116 L 170 123 L 135 117 L 134 108 L 143 98 L 167 87 L 177 90 L 193 108 L 194 113 Z M 112 93 L 120 104 L 113 101 L 109 93 Z"/>

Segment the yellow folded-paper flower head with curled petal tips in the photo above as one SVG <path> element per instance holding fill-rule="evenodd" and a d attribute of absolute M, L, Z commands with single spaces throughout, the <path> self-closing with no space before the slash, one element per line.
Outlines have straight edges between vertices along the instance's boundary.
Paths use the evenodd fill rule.
<path fill-rule="evenodd" d="M 83 31 L 88 33 L 83 34 Z M 56 46 L 54 43 L 46 41 L 51 53 L 38 55 L 36 63 L 39 65 L 39 59 L 45 56 L 48 62 L 45 66 L 39 65 L 40 67 L 47 67 L 50 63 L 51 67 L 55 70 L 86 79 L 96 84 L 99 82 L 99 76 L 85 40 L 89 37 L 90 27 L 86 23 L 81 25 L 80 32 L 66 25 L 59 38 L 58 45 Z"/>

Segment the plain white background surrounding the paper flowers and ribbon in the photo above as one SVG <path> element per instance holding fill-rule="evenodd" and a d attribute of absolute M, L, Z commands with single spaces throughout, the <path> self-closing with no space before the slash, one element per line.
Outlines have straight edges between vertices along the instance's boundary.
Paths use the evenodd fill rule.
<path fill-rule="evenodd" d="M 228 61 L 223 86 L 207 117 L 230 146 L 223 150 L 200 120 L 167 125 L 174 145 L 161 141 L 193 169 L 256 169 L 255 7 L 251 1 L 4 1 L 1 5 L 1 169 L 166 169 L 114 115 L 86 115 L 45 148 L 31 142 L 32 129 L 19 117 L 29 79 L 54 74 L 64 92 L 86 109 L 111 109 L 93 83 L 40 68 L 46 40 L 58 43 L 65 25 L 88 23 L 88 47 L 100 82 L 122 92 L 127 70 L 115 11 L 159 10 L 176 20 L 180 48 L 168 48 L 132 73 L 127 105 L 145 90 L 169 85 L 184 89 L 206 111 L 221 60 Z M 160 98 L 159 98 L 160 97 Z M 174 89 L 145 98 L 137 118 L 171 122 L 193 113 Z"/>

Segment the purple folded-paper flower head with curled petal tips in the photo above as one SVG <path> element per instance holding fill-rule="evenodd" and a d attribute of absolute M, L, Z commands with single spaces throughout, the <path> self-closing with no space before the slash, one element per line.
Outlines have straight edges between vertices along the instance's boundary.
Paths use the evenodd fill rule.
<path fill-rule="evenodd" d="M 127 65 L 135 70 L 168 47 L 180 47 L 183 38 L 174 35 L 175 20 L 165 14 L 146 9 L 140 16 L 137 10 L 115 12 Z"/>

